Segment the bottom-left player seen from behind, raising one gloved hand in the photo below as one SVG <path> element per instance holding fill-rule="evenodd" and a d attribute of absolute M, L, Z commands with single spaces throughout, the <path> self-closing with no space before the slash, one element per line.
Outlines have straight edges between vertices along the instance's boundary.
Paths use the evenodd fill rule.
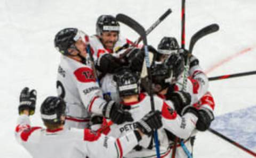
<path fill-rule="evenodd" d="M 135 122 L 138 127 L 122 137 L 114 138 L 89 129 L 63 128 L 66 103 L 60 97 L 49 96 L 41 106 L 45 128 L 31 127 L 29 116 L 34 114 L 36 91 L 25 87 L 20 94 L 17 141 L 35 158 L 53 157 L 123 157 L 141 141 L 162 126 L 159 111 L 150 112 Z"/>

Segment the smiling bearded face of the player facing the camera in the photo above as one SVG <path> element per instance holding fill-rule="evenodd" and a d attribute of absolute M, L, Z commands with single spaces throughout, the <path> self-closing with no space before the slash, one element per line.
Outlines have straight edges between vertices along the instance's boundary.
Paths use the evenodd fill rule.
<path fill-rule="evenodd" d="M 106 49 L 113 49 L 118 40 L 118 32 L 105 31 L 101 35 L 102 44 Z"/>

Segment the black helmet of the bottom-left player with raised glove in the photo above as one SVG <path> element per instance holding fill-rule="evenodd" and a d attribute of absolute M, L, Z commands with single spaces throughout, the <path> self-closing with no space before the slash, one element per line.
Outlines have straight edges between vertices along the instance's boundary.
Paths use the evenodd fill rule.
<path fill-rule="evenodd" d="M 61 116 L 65 116 L 66 103 L 57 96 L 47 97 L 41 105 L 41 118 L 47 124 L 60 124 Z"/>

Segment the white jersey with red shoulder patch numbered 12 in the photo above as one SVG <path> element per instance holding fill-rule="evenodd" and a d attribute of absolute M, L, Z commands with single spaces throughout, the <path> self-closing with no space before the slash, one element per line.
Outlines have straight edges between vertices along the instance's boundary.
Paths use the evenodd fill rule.
<path fill-rule="evenodd" d="M 106 103 L 91 67 L 67 56 L 61 56 L 57 92 L 67 103 L 65 126 L 68 127 L 86 128 L 90 113 L 101 115 Z"/>

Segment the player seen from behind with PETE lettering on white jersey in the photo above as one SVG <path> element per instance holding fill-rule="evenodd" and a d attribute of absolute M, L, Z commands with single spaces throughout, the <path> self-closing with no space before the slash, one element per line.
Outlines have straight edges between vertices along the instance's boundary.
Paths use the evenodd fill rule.
<path fill-rule="evenodd" d="M 129 133 L 131 130 L 140 126 L 135 121 L 142 118 L 145 113 L 151 110 L 150 96 L 146 93 L 140 93 L 140 80 L 137 74 L 132 73 L 129 69 L 122 69 L 114 76 L 117 84 L 117 90 L 122 98 L 123 109 L 129 110 L 132 114 L 134 122 L 124 122 L 124 124 L 113 124 L 110 126 L 108 135 L 120 137 Z M 179 102 L 182 106 L 190 103 L 188 99 L 186 103 L 182 100 Z M 160 144 L 161 157 L 170 157 L 172 149 L 169 145 L 169 133 L 174 133 L 180 138 L 187 139 L 191 131 L 194 130 L 197 122 L 196 109 L 187 111 L 185 115 L 180 117 L 173 107 L 173 103 L 168 104 L 158 96 L 154 96 L 155 109 L 162 111 L 163 128 L 158 130 L 158 139 Z M 183 151 L 177 153 L 184 155 Z M 142 141 L 133 151 L 124 155 L 125 157 L 156 157 L 156 151 L 153 143 L 153 137 L 143 137 Z"/>

